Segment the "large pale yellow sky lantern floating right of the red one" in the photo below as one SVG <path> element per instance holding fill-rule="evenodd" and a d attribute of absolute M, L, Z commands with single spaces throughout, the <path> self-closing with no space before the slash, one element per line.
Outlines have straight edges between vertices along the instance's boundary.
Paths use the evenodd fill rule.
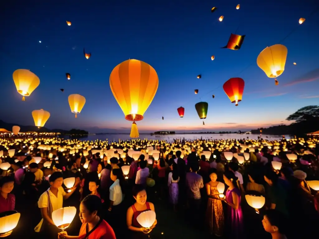
<path fill-rule="evenodd" d="M 287 47 L 276 44 L 266 47 L 257 57 L 257 65 L 269 78 L 280 76 L 285 70 Z"/>

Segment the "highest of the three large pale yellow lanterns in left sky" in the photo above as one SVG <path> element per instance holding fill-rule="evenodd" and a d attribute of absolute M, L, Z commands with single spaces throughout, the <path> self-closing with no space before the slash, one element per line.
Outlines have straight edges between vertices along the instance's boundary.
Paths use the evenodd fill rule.
<path fill-rule="evenodd" d="M 40 84 L 39 77 L 30 70 L 17 69 L 13 72 L 12 76 L 17 91 L 23 95 L 23 101 L 25 101 L 25 96 L 31 95 L 35 88 Z"/>

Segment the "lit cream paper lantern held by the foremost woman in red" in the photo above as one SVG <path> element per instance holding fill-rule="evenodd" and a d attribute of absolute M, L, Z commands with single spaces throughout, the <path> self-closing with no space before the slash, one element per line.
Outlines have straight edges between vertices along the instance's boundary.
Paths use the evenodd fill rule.
<path fill-rule="evenodd" d="M 73 221 L 77 209 L 74 206 L 63 207 L 52 212 L 52 221 L 54 224 L 64 231 Z"/>

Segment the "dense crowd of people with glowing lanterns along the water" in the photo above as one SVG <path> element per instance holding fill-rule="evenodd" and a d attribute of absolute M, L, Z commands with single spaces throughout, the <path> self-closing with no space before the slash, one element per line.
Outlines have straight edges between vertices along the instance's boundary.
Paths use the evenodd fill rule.
<path fill-rule="evenodd" d="M 0 156 L 1 164 L 10 163 L 5 170 L 0 164 L 0 218 L 21 214 L 16 238 L 171 238 L 174 225 L 165 235 L 153 230 L 165 218 L 148 228 L 137 220 L 156 213 L 157 203 L 185 213 L 185 227 L 205 230 L 207 238 L 315 238 L 319 225 L 319 193 L 307 183 L 319 180 L 317 139 L 5 138 Z M 67 178 L 75 178 L 70 188 Z M 245 195 L 265 203 L 253 208 Z M 79 216 L 61 232 L 52 212 L 65 206 Z"/>

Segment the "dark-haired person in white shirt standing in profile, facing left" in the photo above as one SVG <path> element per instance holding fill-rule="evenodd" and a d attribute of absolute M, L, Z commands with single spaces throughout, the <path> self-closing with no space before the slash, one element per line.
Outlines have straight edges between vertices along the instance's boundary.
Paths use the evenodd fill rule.
<path fill-rule="evenodd" d="M 122 169 L 113 169 L 113 174 L 111 176 L 111 180 L 114 183 L 110 186 L 110 207 L 109 211 L 112 210 L 112 206 L 119 205 L 123 201 L 122 188 L 120 185 L 120 180 L 118 177 L 122 175 Z"/>

